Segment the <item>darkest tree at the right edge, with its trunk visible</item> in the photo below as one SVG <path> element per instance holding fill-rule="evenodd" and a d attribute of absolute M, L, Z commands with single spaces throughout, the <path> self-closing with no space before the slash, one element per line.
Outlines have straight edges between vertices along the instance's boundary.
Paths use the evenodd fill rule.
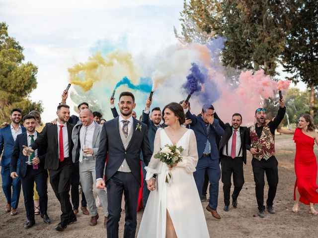
<path fill-rule="evenodd" d="M 290 27 L 283 52 L 285 71 L 310 87 L 310 115 L 314 117 L 315 87 L 318 86 L 318 1 L 292 0 Z"/>

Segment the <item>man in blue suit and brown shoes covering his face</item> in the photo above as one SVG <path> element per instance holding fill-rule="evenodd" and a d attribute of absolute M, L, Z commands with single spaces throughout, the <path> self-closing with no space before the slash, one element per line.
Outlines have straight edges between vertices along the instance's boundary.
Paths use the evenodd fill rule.
<path fill-rule="evenodd" d="M 210 181 L 210 199 L 206 209 L 212 213 L 213 217 L 221 219 L 221 216 L 217 212 L 221 170 L 219 166 L 219 151 L 215 138 L 217 135 L 222 136 L 224 130 L 220 126 L 218 119 L 214 119 L 214 107 L 211 104 L 203 105 L 201 115 L 199 116 L 192 115 L 188 110 L 188 104 L 185 102 L 183 102 L 182 107 L 187 118 L 192 120 L 190 126 L 197 139 L 199 160 L 193 177 L 199 196 L 200 198 L 202 196 L 204 175 L 207 172 Z"/>

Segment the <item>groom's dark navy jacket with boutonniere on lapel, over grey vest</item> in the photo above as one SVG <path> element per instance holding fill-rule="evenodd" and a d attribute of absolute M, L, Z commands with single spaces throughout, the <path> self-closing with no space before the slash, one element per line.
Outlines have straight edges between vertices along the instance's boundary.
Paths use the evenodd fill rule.
<path fill-rule="evenodd" d="M 108 153 L 105 168 L 106 182 L 118 171 L 124 159 L 126 159 L 133 176 L 141 184 L 140 152 L 143 152 L 146 166 L 149 164 L 152 157 L 147 125 L 137 119 L 133 119 L 134 124 L 131 128 L 133 130 L 133 135 L 125 150 L 120 138 L 118 120 L 119 117 L 116 117 L 103 124 L 96 156 L 96 179 L 103 178 L 104 166 Z M 137 123 L 141 125 L 141 130 L 138 128 L 136 129 Z"/>

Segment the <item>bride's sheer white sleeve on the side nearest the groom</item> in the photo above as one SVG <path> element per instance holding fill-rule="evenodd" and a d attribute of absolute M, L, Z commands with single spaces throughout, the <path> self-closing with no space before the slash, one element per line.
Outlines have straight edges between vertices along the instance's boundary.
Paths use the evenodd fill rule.
<path fill-rule="evenodd" d="M 153 156 L 150 159 L 150 162 L 147 167 L 145 167 L 145 170 L 147 171 L 146 174 L 146 180 L 149 180 L 153 178 L 154 174 L 159 174 L 161 170 L 161 163 L 160 159 L 156 159 L 154 157 L 155 154 L 157 154 L 160 151 L 160 130 L 162 128 L 159 128 L 156 132 L 155 141 L 154 141 L 154 153 Z"/>

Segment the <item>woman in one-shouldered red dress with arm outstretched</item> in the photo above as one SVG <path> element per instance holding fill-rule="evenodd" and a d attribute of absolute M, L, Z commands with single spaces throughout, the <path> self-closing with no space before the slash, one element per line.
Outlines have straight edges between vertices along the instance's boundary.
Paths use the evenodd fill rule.
<path fill-rule="evenodd" d="M 294 134 L 296 143 L 293 212 L 299 210 L 299 202 L 309 205 L 309 213 L 317 215 L 314 204 L 318 203 L 317 158 L 314 153 L 315 141 L 318 144 L 318 134 L 315 131 L 313 118 L 304 114 L 299 118 L 296 129 L 277 129 L 280 133 Z"/>

